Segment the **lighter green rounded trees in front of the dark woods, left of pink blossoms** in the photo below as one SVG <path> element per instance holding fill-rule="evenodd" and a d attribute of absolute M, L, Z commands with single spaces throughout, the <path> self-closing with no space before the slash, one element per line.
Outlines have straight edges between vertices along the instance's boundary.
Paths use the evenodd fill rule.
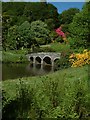
<path fill-rule="evenodd" d="M 42 21 L 34 21 L 31 24 L 25 21 L 20 26 L 12 26 L 8 29 L 6 47 L 11 50 L 30 48 L 32 45 L 47 44 L 50 42 L 50 31 Z"/>

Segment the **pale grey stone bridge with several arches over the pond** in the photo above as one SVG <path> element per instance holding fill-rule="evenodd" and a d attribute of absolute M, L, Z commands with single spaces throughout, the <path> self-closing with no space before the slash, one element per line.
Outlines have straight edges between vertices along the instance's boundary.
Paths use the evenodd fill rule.
<path fill-rule="evenodd" d="M 33 64 L 50 64 L 54 66 L 54 62 L 60 59 L 61 53 L 56 52 L 40 52 L 40 53 L 31 53 L 27 55 L 27 58 Z"/>

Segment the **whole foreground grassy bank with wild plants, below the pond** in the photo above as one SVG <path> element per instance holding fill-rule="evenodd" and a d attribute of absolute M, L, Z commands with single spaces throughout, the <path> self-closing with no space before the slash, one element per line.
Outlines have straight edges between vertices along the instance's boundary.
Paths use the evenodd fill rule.
<path fill-rule="evenodd" d="M 68 68 L 45 76 L 3 81 L 3 115 L 34 120 L 86 118 L 90 114 L 87 82 L 87 66 Z M 5 106 L 9 106 L 9 110 Z"/>

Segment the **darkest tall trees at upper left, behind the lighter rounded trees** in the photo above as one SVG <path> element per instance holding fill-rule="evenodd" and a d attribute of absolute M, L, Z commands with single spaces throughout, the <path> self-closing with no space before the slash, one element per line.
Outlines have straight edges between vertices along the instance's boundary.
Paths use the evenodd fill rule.
<path fill-rule="evenodd" d="M 2 2 L 2 12 L 7 12 L 13 17 L 15 25 L 24 21 L 36 21 L 45 19 L 53 19 L 53 24 L 57 26 L 58 12 L 57 8 L 47 2 Z M 17 8 L 17 9 L 16 9 Z M 42 10 L 42 11 L 41 11 Z M 37 14 L 38 13 L 38 14 Z M 22 22 L 19 21 L 22 18 Z"/>

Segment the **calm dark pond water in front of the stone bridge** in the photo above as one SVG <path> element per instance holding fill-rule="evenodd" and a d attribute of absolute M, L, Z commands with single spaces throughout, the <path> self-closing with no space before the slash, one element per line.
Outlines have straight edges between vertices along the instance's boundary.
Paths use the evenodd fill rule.
<path fill-rule="evenodd" d="M 15 79 L 28 76 L 38 76 L 53 72 L 53 68 L 49 65 L 30 65 L 30 64 L 3 64 L 2 80 Z"/>

